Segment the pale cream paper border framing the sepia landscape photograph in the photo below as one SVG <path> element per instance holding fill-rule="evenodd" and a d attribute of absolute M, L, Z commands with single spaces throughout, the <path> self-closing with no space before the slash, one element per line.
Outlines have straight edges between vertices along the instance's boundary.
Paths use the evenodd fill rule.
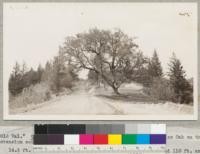
<path fill-rule="evenodd" d="M 82 1 L 62 1 L 63 3 L 81 3 Z M 91 1 L 89 1 L 91 2 Z M 109 1 L 112 2 L 112 1 Z M 113 3 L 120 2 L 120 3 L 147 3 L 147 2 L 135 2 L 135 1 L 114 1 Z M 171 2 L 171 1 L 170 1 Z M 4 2 L 10 3 L 10 2 Z M 16 3 L 16 2 L 12 2 Z M 29 3 L 29 2 L 24 2 Z M 33 2 L 30 2 L 33 3 Z M 44 2 L 40 2 L 44 3 Z M 46 2 L 45 2 L 46 3 Z M 57 3 L 57 2 L 54 2 Z M 60 2 L 58 2 L 60 3 Z M 96 2 L 91 2 L 96 3 Z M 103 3 L 100 1 L 99 3 Z M 149 2 L 148 2 L 149 3 Z M 152 2 L 150 2 L 152 3 Z M 155 3 L 155 2 L 153 2 Z M 164 3 L 156 1 L 156 3 Z M 172 2 L 171 2 L 172 3 Z M 185 2 L 175 2 L 175 3 L 185 3 Z M 198 2 L 188 2 L 188 3 L 196 3 Z M 197 7 L 197 28 L 198 28 L 198 7 Z M 197 52 L 195 53 L 197 57 L 195 59 L 195 63 L 197 69 L 195 69 L 196 76 L 194 76 L 193 80 L 193 114 L 192 115 L 86 115 L 86 114 L 79 114 L 79 115 L 10 115 L 9 114 L 9 107 L 8 107 L 8 82 L 5 82 L 8 77 L 3 73 L 3 119 L 4 120 L 197 120 L 198 119 L 198 31 L 197 31 Z M 3 72 L 6 71 L 5 59 L 3 54 Z M 7 80 L 8 81 L 8 80 Z"/>

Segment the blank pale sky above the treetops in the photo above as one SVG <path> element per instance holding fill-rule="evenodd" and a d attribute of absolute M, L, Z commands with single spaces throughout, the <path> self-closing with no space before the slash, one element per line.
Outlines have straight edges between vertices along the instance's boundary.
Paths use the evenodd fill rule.
<path fill-rule="evenodd" d="M 188 12 L 190 16 L 179 13 Z M 36 68 L 52 59 L 64 38 L 89 28 L 120 28 L 147 56 L 157 50 L 164 72 L 175 52 L 188 77 L 196 73 L 196 3 L 4 3 L 4 65 Z"/>

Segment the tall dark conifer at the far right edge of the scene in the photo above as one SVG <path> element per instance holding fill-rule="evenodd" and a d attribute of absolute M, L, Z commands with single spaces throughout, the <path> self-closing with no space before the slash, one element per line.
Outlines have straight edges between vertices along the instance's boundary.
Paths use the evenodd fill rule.
<path fill-rule="evenodd" d="M 173 101 L 179 103 L 192 102 L 192 86 L 186 79 L 183 66 L 180 60 L 176 58 L 174 53 L 169 64 L 169 78 L 170 84 L 174 91 Z"/>

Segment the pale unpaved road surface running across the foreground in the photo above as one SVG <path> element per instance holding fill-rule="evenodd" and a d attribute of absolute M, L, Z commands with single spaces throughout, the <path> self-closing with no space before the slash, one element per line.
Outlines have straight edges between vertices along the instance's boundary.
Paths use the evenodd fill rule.
<path fill-rule="evenodd" d="M 69 95 L 59 96 L 53 100 L 27 107 L 21 114 L 31 115 L 130 115 L 130 114 L 192 114 L 192 106 L 181 104 L 126 102 L 103 98 L 80 89 Z"/>

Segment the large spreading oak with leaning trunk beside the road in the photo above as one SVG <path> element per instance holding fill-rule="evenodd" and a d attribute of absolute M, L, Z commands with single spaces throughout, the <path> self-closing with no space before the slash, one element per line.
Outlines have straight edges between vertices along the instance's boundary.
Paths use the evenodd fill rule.
<path fill-rule="evenodd" d="M 67 37 L 63 51 L 73 65 L 97 73 L 116 94 L 127 82 L 127 72 L 135 69 L 136 48 L 132 39 L 117 30 L 91 29 Z"/>

